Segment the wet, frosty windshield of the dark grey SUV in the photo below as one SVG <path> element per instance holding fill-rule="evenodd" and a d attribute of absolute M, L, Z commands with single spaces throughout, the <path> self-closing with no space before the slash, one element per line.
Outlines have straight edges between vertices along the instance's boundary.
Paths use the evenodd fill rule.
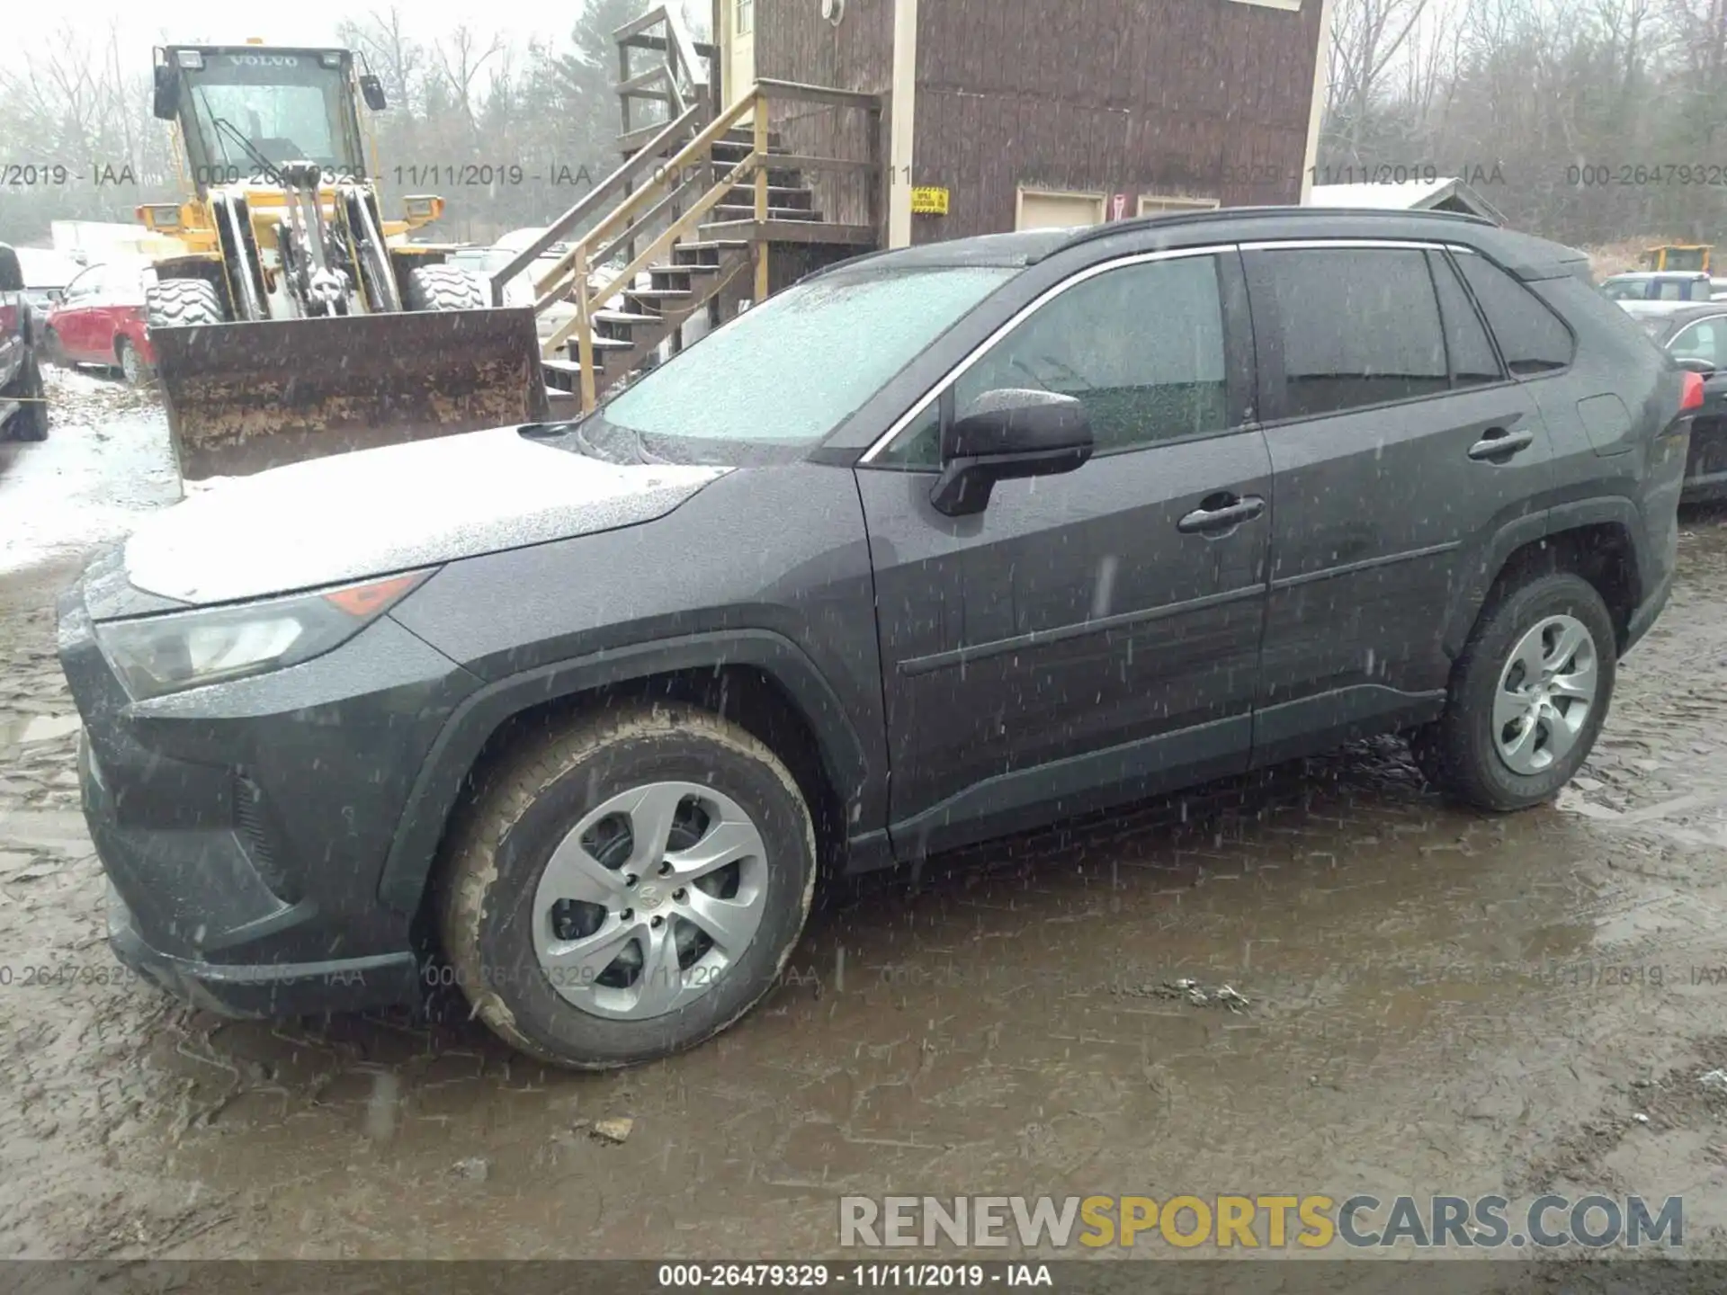
<path fill-rule="evenodd" d="M 622 392 L 604 420 L 684 440 L 819 440 L 1015 273 L 952 266 L 800 283 Z"/>

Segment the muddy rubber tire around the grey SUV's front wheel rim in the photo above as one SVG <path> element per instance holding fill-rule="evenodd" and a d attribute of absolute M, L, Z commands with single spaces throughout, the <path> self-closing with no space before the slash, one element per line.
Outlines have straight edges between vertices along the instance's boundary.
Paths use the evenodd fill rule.
<path fill-rule="evenodd" d="M 439 941 L 444 957 L 456 972 L 456 982 L 468 995 L 471 1015 L 485 1022 L 489 1029 L 511 1046 L 547 1065 L 566 1071 L 615 1071 L 634 1062 L 579 1062 L 542 1048 L 516 1027 L 509 1007 L 494 988 L 487 986 L 480 950 L 480 925 L 492 886 L 497 881 L 497 846 L 516 822 L 520 822 L 522 815 L 527 813 L 528 806 L 573 765 L 629 737 L 677 732 L 699 734 L 705 739 L 731 748 L 746 760 L 770 768 L 786 784 L 801 808 L 805 844 L 812 862 L 817 858 L 815 824 L 810 818 L 808 805 L 796 779 L 779 756 L 765 742 L 736 723 L 694 706 L 655 704 L 611 710 L 530 741 L 484 770 L 475 780 L 468 803 L 458 812 L 458 822 L 452 825 L 446 855 L 439 867 L 440 886 L 435 896 Z M 800 896 L 805 919 L 815 898 L 817 872 L 815 867 L 810 869 L 803 894 Z M 774 979 L 777 979 L 791 958 L 794 946 L 796 941 L 786 946 L 775 967 L 775 977 L 767 981 L 760 995 L 701 1036 L 686 1039 L 677 1052 L 687 1052 L 705 1043 L 746 1015 L 772 988 Z M 466 986 L 473 986 L 473 989 Z"/>

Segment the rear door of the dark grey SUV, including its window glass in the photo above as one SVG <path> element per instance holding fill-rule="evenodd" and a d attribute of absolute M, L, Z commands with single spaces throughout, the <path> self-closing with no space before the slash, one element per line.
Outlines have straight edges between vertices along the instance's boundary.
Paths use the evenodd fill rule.
<path fill-rule="evenodd" d="M 1461 570 L 1551 480 L 1451 257 L 1247 250 L 1276 513 L 1254 761 L 1432 718 Z"/>

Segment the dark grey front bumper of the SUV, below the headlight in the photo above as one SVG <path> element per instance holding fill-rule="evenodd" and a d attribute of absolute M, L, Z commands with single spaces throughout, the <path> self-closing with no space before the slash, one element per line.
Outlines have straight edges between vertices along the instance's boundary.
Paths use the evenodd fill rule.
<path fill-rule="evenodd" d="M 299 666 L 135 703 L 83 592 L 60 601 L 59 653 L 121 962 L 230 1015 L 416 1001 L 414 913 L 382 903 L 378 879 L 425 751 L 477 680 L 383 616 Z"/>

